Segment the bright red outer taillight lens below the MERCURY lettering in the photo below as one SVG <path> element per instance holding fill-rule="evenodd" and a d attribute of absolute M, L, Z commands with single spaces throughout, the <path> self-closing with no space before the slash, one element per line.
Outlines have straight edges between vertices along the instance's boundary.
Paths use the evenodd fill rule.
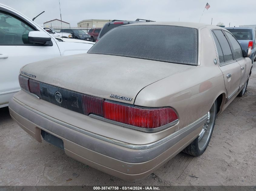
<path fill-rule="evenodd" d="M 103 103 L 104 118 L 128 125 L 153 129 L 178 119 L 177 113 L 170 107 L 145 109 L 111 103 Z"/>

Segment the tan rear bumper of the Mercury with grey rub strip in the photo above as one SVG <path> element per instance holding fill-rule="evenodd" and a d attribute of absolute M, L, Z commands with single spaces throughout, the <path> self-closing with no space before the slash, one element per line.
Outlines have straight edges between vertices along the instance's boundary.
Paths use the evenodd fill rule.
<path fill-rule="evenodd" d="M 168 139 L 161 139 L 148 145 L 129 145 L 101 135 L 90 134 L 45 115 L 16 98 L 9 102 L 9 111 L 18 125 L 38 142 L 42 142 L 42 129 L 61 138 L 65 153 L 71 158 L 128 181 L 147 177 L 182 151 L 198 136 L 206 120 L 205 115 L 168 136 Z"/>

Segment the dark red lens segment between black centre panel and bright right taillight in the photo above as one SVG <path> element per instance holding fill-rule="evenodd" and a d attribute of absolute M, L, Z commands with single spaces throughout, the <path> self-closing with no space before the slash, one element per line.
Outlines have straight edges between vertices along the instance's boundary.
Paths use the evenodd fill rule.
<path fill-rule="evenodd" d="M 94 113 L 103 116 L 103 102 L 101 98 L 83 95 L 82 107 L 85 115 Z"/>

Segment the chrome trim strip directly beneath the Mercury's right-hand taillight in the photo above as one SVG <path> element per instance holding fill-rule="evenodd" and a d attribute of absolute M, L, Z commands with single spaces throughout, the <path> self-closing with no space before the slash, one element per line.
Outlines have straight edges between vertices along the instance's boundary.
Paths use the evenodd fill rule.
<path fill-rule="evenodd" d="M 89 117 L 92 117 L 92 118 L 95 118 L 95 119 L 99 119 L 101 121 L 105 121 L 105 122 L 108 122 L 108 123 L 112 123 L 114 125 L 126 127 L 126 128 L 129 128 L 129 129 L 134 129 L 134 130 L 138 130 L 138 131 L 148 132 L 148 133 L 161 131 L 161 130 L 166 129 L 168 127 L 174 126 L 174 125 L 176 125 L 179 122 L 179 119 L 176 119 L 175 121 L 173 121 L 171 123 L 168 123 L 166 125 L 163 125 L 161 127 L 157 127 L 157 128 L 154 128 L 154 129 L 145 129 L 145 128 L 142 128 L 142 127 L 136 127 L 136 126 L 128 125 L 128 124 L 125 124 L 125 123 L 120 123 L 120 122 L 117 122 L 117 121 L 106 119 L 106 118 L 104 118 L 102 116 L 95 115 L 93 113 L 91 113 L 89 115 Z"/>

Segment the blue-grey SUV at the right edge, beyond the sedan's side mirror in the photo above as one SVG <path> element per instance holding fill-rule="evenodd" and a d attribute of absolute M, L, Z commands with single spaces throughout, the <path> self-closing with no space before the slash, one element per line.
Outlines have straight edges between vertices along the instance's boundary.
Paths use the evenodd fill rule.
<path fill-rule="evenodd" d="M 256 61 L 256 30 L 252 28 L 245 27 L 226 27 L 229 32 L 231 32 L 234 37 L 241 44 L 242 49 L 250 48 L 252 54 L 250 56 L 251 62 Z"/>

